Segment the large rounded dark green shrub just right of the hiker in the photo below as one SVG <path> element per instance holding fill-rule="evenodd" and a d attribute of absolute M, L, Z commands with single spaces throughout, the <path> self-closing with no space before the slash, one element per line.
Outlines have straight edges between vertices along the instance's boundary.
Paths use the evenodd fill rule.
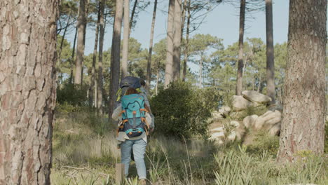
<path fill-rule="evenodd" d="M 156 130 L 166 136 L 186 139 L 205 135 L 207 118 L 218 102 L 218 91 L 214 88 L 199 90 L 189 83 L 171 83 L 151 100 Z"/>

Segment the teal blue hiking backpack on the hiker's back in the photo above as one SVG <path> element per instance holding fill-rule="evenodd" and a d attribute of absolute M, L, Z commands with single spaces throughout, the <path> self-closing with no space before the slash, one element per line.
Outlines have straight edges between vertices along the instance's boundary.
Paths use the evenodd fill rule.
<path fill-rule="evenodd" d="M 146 109 L 144 109 L 144 97 L 138 94 L 125 95 L 121 98 L 122 124 L 119 131 L 123 131 L 128 137 L 137 137 L 147 132 Z"/>

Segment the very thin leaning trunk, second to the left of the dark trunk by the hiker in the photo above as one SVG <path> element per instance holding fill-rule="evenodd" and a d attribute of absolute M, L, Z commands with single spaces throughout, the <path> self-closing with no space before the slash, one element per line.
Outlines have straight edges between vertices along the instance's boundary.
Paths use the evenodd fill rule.
<path fill-rule="evenodd" d="M 101 2 L 99 2 L 98 9 L 98 18 L 97 26 L 95 30 L 95 47 L 93 48 L 93 67 L 91 69 L 91 78 L 90 78 L 90 95 L 89 95 L 89 106 L 93 107 L 93 93 L 95 89 L 95 62 L 97 60 L 97 48 L 98 48 L 98 39 L 99 39 L 99 27 L 100 27 L 100 14 L 101 14 Z M 96 105 L 95 105 L 96 106 Z"/>

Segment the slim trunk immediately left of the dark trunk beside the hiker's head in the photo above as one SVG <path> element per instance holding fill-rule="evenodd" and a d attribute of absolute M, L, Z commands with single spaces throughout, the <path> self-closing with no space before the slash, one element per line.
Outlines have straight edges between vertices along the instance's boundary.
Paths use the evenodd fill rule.
<path fill-rule="evenodd" d="M 98 82 L 97 82 L 97 109 L 98 113 L 102 115 L 102 97 L 103 97 L 103 75 L 102 75 L 102 50 L 104 47 L 104 29 L 106 17 L 104 17 L 104 6 L 105 0 L 102 0 L 102 4 L 100 6 L 100 41 L 99 41 L 99 61 L 98 61 Z M 118 64 L 119 69 L 119 64 Z M 119 74 L 118 74 L 119 76 Z"/>

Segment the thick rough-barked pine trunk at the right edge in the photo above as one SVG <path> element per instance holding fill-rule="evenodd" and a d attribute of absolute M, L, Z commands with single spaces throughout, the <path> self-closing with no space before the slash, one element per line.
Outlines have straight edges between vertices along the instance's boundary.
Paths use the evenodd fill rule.
<path fill-rule="evenodd" d="M 289 1 L 288 60 L 278 161 L 324 151 L 327 1 Z"/>

